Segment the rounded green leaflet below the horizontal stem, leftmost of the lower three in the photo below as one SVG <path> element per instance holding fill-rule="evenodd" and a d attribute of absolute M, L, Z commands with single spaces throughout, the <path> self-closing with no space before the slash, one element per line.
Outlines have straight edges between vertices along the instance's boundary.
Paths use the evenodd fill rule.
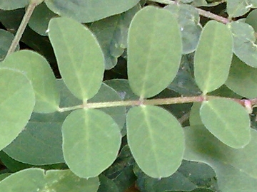
<path fill-rule="evenodd" d="M 82 178 L 101 174 L 114 162 L 121 145 L 118 125 L 100 110 L 71 112 L 62 132 L 66 164 Z"/>

